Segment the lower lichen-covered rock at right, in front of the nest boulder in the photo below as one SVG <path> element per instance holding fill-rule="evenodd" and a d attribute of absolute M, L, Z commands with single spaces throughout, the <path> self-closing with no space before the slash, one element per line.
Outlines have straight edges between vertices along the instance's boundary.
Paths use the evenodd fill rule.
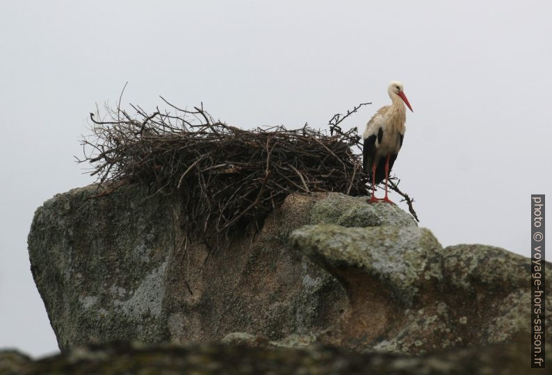
<path fill-rule="evenodd" d="M 528 258 L 484 245 L 441 249 L 415 227 L 304 226 L 290 241 L 348 293 L 348 309 L 321 342 L 427 353 L 528 335 Z"/>

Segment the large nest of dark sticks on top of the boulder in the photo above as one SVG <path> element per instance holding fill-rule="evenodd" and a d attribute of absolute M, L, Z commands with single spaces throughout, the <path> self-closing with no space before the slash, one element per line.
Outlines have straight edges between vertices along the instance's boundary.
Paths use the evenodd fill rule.
<path fill-rule="evenodd" d="M 245 131 L 213 121 L 202 107 L 172 107 L 175 115 L 133 106 L 133 117 L 106 108 L 111 121 L 90 114 L 92 135 L 83 138 L 79 162 L 91 163 L 103 187 L 97 197 L 135 183 L 151 196 L 178 194 L 186 231 L 220 240 L 250 224 L 260 228 L 293 192 L 368 194 L 362 159 L 352 151 L 356 128 L 331 136 L 307 124 Z"/>

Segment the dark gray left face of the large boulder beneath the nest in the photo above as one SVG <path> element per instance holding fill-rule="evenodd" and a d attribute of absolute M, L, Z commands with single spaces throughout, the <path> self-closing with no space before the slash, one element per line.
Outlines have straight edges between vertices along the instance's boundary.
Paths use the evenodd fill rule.
<path fill-rule="evenodd" d="M 31 272 L 58 344 L 162 342 L 171 212 L 144 190 L 89 199 L 96 193 L 57 194 L 31 225 Z"/>

